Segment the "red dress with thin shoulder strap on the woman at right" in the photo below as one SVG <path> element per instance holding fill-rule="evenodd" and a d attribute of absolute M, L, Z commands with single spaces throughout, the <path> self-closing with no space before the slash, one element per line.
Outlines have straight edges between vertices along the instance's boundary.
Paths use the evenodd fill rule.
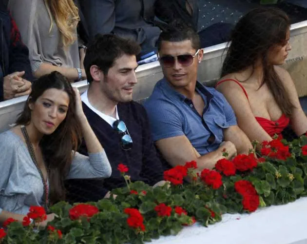
<path fill-rule="evenodd" d="M 245 96 L 249 100 L 249 97 L 247 95 L 246 90 L 244 89 L 243 85 L 240 84 L 239 81 L 233 80 L 233 79 L 225 79 L 222 81 L 219 81 L 216 83 L 215 87 L 217 87 L 219 84 L 225 82 L 225 81 L 234 81 L 236 82 L 243 90 Z M 290 119 L 286 117 L 285 114 L 282 114 L 282 116 L 277 121 L 271 121 L 266 118 L 262 117 L 255 117 L 256 121 L 261 125 L 261 127 L 272 137 L 275 134 L 279 135 L 289 124 Z"/>

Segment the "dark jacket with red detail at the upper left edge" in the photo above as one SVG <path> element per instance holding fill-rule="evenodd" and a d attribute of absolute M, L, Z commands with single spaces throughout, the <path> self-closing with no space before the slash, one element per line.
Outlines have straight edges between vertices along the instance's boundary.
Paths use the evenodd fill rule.
<path fill-rule="evenodd" d="M 22 78 L 33 81 L 29 50 L 22 43 L 15 21 L 0 1 L 0 101 L 3 101 L 3 78 L 16 71 L 25 71 Z"/>

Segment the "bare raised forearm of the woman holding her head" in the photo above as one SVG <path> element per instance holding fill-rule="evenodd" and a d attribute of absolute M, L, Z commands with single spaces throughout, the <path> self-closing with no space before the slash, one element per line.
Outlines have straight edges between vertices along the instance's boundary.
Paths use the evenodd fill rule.
<path fill-rule="evenodd" d="M 79 123 L 81 125 L 82 136 L 84 138 L 88 153 L 98 153 L 102 152 L 103 148 L 98 141 L 92 127 L 87 121 L 85 115 L 79 118 Z"/>

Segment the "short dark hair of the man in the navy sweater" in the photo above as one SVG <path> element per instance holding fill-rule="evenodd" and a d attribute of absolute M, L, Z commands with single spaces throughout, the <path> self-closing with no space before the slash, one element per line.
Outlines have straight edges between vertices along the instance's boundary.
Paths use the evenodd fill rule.
<path fill-rule="evenodd" d="M 90 72 L 92 65 L 97 65 L 103 74 L 107 75 L 116 59 L 124 54 L 137 56 L 140 51 L 141 47 L 135 41 L 126 40 L 111 34 L 97 34 L 86 49 L 83 62 L 87 81 L 89 83 L 93 81 Z"/>

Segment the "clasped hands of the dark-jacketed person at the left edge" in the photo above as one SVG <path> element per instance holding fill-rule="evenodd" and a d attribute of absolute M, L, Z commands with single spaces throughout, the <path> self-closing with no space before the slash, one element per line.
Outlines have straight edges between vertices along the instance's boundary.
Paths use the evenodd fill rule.
<path fill-rule="evenodd" d="M 21 77 L 24 71 L 14 72 L 3 78 L 3 99 L 8 100 L 12 98 L 21 97 L 31 93 L 31 82 Z"/>

